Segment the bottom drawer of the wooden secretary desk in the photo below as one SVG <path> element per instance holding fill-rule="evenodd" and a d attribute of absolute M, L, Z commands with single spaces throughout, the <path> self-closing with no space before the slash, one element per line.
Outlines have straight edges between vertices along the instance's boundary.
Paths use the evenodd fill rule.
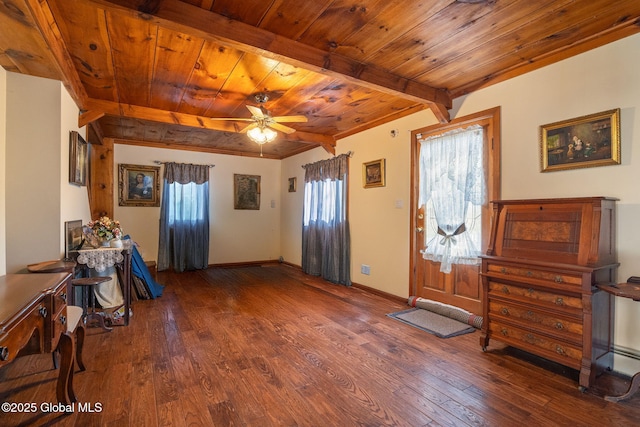
<path fill-rule="evenodd" d="M 501 322 L 491 322 L 493 338 L 575 369 L 581 368 L 582 346 Z"/>

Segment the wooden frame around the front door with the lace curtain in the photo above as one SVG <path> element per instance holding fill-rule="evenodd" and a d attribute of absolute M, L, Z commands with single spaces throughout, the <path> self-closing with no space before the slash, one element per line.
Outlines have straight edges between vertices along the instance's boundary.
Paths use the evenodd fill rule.
<path fill-rule="evenodd" d="M 417 179 L 418 173 L 418 155 L 419 145 L 417 143 L 417 135 L 425 133 L 442 133 L 449 130 L 457 129 L 464 126 L 470 126 L 473 124 L 480 124 L 486 128 L 487 138 L 491 144 L 491 151 L 489 153 L 489 171 L 487 188 L 490 189 L 488 196 L 489 201 L 497 200 L 500 198 L 500 107 L 490 108 L 488 110 L 480 111 L 468 116 L 460 117 L 451 120 L 447 124 L 435 124 L 427 126 L 421 129 L 411 131 L 411 215 L 409 221 L 409 295 L 417 295 L 417 280 L 416 280 L 416 252 L 418 242 L 416 239 L 416 227 L 419 226 L 418 220 L 418 192 L 419 192 L 419 180 Z M 486 237 L 485 237 L 486 234 Z M 489 230 L 483 233 L 482 244 L 483 251 L 488 240 Z"/>

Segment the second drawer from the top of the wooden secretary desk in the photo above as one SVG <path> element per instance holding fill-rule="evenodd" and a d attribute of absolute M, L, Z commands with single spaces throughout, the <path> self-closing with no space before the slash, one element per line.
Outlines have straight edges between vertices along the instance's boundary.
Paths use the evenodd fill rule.
<path fill-rule="evenodd" d="M 519 300 L 525 304 L 538 304 L 552 310 L 575 309 L 574 311 L 578 314 L 582 311 L 580 295 L 563 295 L 500 282 L 489 282 L 489 298 L 491 297 Z"/>

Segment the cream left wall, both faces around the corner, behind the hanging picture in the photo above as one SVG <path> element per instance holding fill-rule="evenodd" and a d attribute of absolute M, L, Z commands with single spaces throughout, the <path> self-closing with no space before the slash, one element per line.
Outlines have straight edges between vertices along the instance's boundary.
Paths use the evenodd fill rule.
<path fill-rule="evenodd" d="M 64 254 L 64 222 L 90 219 L 86 187 L 69 184 L 78 108 L 55 80 L 6 73 L 6 272 Z M 3 132 L 3 135 L 5 133 Z M 3 191 L 5 187 L 3 186 Z"/>

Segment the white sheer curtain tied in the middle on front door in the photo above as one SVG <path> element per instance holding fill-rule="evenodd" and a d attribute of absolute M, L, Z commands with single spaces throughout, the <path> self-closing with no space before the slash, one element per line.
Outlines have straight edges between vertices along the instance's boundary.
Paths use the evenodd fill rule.
<path fill-rule="evenodd" d="M 476 264 L 480 255 L 481 226 L 471 212 L 485 201 L 483 129 L 470 126 L 420 142 L 420 194 L 418 206 L 435 218 L 424 234 L 425 259 L 440 262 L 440 271 L 452 264 Z"/>

